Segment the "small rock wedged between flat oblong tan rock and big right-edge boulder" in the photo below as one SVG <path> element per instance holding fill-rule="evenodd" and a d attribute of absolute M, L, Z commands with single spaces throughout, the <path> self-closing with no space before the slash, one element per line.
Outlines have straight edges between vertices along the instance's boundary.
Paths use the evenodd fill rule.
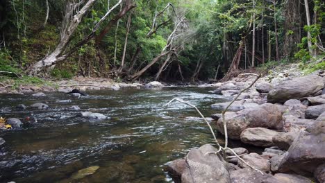
<path fill-rule="evenodd" d="M 298 132 L 287 132 L 287 133 L 278 133 L 272 137 L 274 145 L 278 146 L 283 150 L 288 150 L 292 142 L 296 137 L 298 137 Z"/>

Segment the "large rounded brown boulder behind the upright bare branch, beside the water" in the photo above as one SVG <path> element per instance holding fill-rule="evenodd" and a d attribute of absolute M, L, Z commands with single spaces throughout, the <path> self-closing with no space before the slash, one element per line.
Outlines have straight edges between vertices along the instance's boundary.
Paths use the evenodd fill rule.
<path fill-rule="evenodd" d="M 278 105 L 265 103 L 257 107 L 242 110 L 235 116 L 226 116 L 228 137 L 231 139 L 240 139 L 240 134 L 247 128 L 282 129 L 282 114 L 283 110 Z M 224 133 L 222 119 L 217 121 L 217 130 Z"/>

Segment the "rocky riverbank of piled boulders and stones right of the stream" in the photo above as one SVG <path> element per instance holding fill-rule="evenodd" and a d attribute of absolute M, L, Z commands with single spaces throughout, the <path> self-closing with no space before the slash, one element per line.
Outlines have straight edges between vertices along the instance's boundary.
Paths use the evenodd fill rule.
<path fill-rule="evenodd" d="M 215 94 L 235 97 L 256 76 L 217 83 Z M 204 87 L 204 86 L 201 86 Z M 275 70 L 240 95 L 225 114 L 228 138 L 265 148 L 262 154 L 233 149 L 226 160 L 211 145 L 192 149 L 171 162 L 175 182 L 325 182 L 325 73 L 303 76 L 297 65 Z M 229 103 L 212 105 L 224 110 Z M 224 133 L 221 114 L 213 114 Z"/>

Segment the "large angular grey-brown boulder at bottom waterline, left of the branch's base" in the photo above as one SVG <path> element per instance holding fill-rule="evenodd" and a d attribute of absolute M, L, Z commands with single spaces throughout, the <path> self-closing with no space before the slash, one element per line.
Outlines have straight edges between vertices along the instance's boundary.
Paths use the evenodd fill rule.
<path fill-rule="evenodd" d="M 192 149 L 183 160 L 176 160 L 167 167 L 167 171 L 172 174 L 173 180 L 182 183 L 195 182 L 224 182 L 230 183 L 230 176 L 226 168 L 226 163 L 222 157 L 215 154 L 206 154 L 216 152 L 213 146 L 207 144 L 199 149 Z"/>

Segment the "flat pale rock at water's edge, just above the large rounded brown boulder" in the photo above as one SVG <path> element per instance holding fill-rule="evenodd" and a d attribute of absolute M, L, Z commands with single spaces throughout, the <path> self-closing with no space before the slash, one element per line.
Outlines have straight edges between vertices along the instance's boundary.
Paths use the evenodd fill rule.
<path fill-rule="evenodd" d="M 213 110 L 225 110 L 226 107 L 229 105 L 229 103 L 231 102 L 226 102 L 226 103 L 215 103 L 213 105 L 211 105 L 211 107 L 213 108 Z M 233 104 L 228 108 L 228 111 L 233 111 L 233 112 L 237 112 L 240 110 L 244 110 L 246 108 L 251 108 L 251 107 L 257 107 L 258 104 L 257 103 L 245 103 L 244 100 L 242 101 L 235 101 L 233 102 Z"/>

